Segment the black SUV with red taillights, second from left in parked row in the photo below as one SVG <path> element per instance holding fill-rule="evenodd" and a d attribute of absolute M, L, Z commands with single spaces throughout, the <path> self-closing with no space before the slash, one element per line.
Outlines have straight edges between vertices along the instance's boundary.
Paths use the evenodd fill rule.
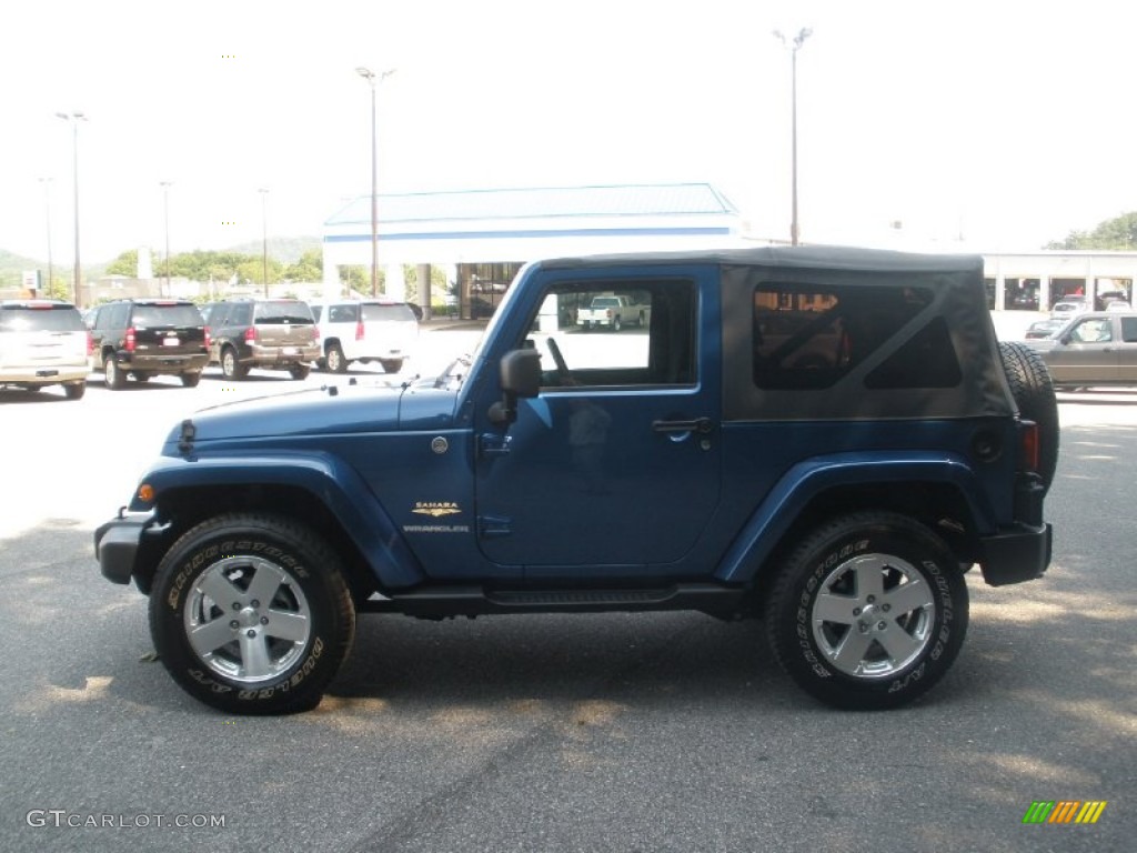
<path fill-rule="evenodd" d="M 88 318 L 91 367 L 118 390 L 126 376 L 179 376 L 193 388 L 209 362 L 209 340 L 198 307 L 188 299 L 121 299 L 100 305 Z"/>

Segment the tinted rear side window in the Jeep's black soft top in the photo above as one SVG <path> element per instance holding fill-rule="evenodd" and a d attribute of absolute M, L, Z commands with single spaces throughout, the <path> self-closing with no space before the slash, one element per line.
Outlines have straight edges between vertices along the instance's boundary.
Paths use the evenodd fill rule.
<path fill-rule="evenodd" d="M 754 383 L 829 388 L 931 304 L 922 288 L 763 283 L 754 291 Z M 869 374 L 869 388 L 952 387 L 961 376 L 943 321 L 930 322 Z"/>

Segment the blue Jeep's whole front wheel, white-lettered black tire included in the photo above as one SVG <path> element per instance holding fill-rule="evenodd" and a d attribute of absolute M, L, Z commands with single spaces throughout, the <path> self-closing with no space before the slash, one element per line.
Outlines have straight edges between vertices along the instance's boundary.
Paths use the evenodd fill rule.
<path fill-rule="evenodd" d="M 319 704 L 355 637 L 335 552 L 273 515 L 221 515 L 158 564 L 150 635 L 191 696 L 226 713 L 284 714 Z"/>

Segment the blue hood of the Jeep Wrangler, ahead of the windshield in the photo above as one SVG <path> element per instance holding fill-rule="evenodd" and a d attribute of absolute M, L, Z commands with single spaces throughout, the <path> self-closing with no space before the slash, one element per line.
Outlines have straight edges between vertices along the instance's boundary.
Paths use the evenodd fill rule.
<path fill-rule="evenodd" d="M 179 455 L 209 445 L 219 449 L 232 442 L 442 426 L 453 421 L 454 403 L 455 394 L 447 390 L 325 386 L 201 409 L 171 431 L 164 452 Z"/>

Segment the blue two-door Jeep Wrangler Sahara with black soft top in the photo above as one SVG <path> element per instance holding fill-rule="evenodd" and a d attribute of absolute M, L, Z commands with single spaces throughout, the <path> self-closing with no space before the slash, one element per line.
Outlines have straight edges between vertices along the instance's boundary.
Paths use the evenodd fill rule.
<path fill-rule="evenodd" d="M 596 296 L 650 321 L 583 333 Z M 358 613 L 679 608 L 760 618 L 810 694 L 882 709 L 951 666 L 971 566 L 1046 570 L 1057 439 L 979 257 L 557 259 L 437 378 L 183 421 L 96 553 L 229 713 L 318 704 Z"/>

